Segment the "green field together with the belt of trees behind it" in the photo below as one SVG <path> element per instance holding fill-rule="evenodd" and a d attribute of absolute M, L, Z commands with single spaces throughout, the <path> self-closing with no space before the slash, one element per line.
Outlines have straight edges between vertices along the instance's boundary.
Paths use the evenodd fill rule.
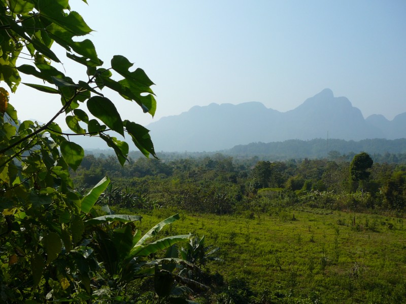
<path fill-rule="evenodd" d="M 199 280 L 211 289 L 195 294 L 196 301 L 393 303 L 406 298 L 404 165 L 374 162 L 363 168 L 369 174 L 362 185 L 344 160 L 168 156 L 139 158 L 122 167 L 111 157 L 89 155 L 73 179 L 85 186 L 89 176 L 108 174 L 117 195 L 98 204 L 142 212 L 142 225 L 179 212 L 181 220 L 164 234 L 205 235 L 206 243 L 219 248 L 215 256 L 224 261 L 202 266 Z M 188 248 L 196 248 L 198 240 Z"/>

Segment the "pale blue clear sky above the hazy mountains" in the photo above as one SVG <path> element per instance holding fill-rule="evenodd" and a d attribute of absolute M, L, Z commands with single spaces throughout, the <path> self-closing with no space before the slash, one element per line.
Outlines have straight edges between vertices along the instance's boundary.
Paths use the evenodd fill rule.
<path fill-rule="evenodd" d="M 282 112 L 329 88 L 364 118 L 406 112 L 406 1 L 71 0 L 105 67 L 123 55 L 155 83 L 157 111 L 107 94 L 143 125 L 194 105 L 259 101 Z M 85 70 L 65 60 L 73 79 Z M 23 64 L 24 62 L 21 62 Z M 29 82 L 24 78 L 23 82 Z M 20 119 L 48 121 L 59 100 L 20 86 Z M 64 126 L 64 118 L 57 120 Z"/>

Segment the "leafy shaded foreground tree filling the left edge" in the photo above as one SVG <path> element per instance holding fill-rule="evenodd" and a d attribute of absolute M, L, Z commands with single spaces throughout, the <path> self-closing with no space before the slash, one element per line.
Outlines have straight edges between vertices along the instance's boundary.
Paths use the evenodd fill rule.
<path fill-rule="evenodd" d="M 103 67 L 92 42 L 82 38 L 92 29 L 79 13 L 71 11 L 69 0 L 2 0 L 0 23 L 0 86 L 6 84 L 15 92 L 24 84 L 53 94 L 61 102 L 47 123 L 21 122 L 9 103 L 8 90 L 0 87 L 0 301 L 124 301 L 123 293 L 113 298 L 103 293 L 111 280 L 100 278 L 120 275 L 120 267 L 127 265 L 110 269 L 111 265 L 101 263 L 101 250 L 111 249 L 101 244 L 109 241 L 121 246 L 117 254 L 125 255 L 125 260 L 120 263 L 133 261 L 141 247 L 151 247 L 134 229 L 139 216 L 98 217 L 95 213 L 93 205 L 108 186 L 108 178 L 86 196 L 75 190 L 69 169 L 80 166 L 84 150 L 71 138 L 103 139 L 121 165 L 129 146 L 111 134 L 128 136 L 145 156 L 156 157 L 149 131 L 122 120 L 114 103 L 102 93 L 115 91 L 153 116 L 153 82 L 142 69 L 130 70 L 133 64 L 120 55 Z M 83 66 L 82 80 L 74 82 L 55 67 L 62 62 L 52 51 L 55 44 L 66 50 L 67 62 Z M 30 58 L 17 65 L 23 57 Z M 38 81 L 22 83 L 20 73 Z M 30 102 L 41 107 L 40 101 Z M 54 122 L 61 115 L 71 133 L 62 132 Z M 175 239 L 166 239 L 160 249 L 169 248 Z M 142 267 L 147 261 L 140 263 Z M 159 274 L 162 263 L 154 261 L 152 269 Z"/>

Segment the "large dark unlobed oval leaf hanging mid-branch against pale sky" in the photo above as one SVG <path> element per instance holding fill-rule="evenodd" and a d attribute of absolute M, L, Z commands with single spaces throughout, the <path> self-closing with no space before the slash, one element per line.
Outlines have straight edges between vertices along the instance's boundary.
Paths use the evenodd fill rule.
<path fill-rule="evenodd" d="M 124 127 L 120 114 L 110 99 L 93 96 L 87 101 L 87 108 L 94 117 L 104 122 L 113 131 L 124 136 Z"/>

